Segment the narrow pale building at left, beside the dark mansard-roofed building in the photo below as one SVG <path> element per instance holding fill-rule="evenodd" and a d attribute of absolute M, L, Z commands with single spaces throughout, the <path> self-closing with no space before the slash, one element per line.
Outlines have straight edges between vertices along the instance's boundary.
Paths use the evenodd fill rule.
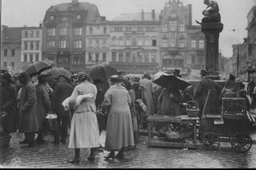
<path fill-rule="evenodd" d="M 22 69 L 35 61 L 42 61 L 42 27 L 24 27 L 21 48 Z"/>

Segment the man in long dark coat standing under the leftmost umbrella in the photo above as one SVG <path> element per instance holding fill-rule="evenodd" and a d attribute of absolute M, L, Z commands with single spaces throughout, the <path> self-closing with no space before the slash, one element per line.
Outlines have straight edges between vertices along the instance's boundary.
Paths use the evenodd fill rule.
<path fill-rule="evenodd" d="M 38 132 L 37 95 L 27 73 L 20 73 L 19 81 L 23 85 L 19 103 L 19 132 L 25 133 L 20 144 L 34 146 L 34 132 Z"/>

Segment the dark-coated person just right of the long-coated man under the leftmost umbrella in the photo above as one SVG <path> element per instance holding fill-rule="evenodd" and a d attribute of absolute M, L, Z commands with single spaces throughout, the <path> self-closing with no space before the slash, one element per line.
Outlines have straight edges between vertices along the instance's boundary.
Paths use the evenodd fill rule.
<path fill-rule="evenodd" d="M 37 91 L 37 105 L 38 105 L 38 138 L 37 142 L 44 142 L 43 139 L 43 124 L 46 121 L 46 113 L 50 112 L 50 95 L 46 89 L 46 75 L 38 76 Z"/>

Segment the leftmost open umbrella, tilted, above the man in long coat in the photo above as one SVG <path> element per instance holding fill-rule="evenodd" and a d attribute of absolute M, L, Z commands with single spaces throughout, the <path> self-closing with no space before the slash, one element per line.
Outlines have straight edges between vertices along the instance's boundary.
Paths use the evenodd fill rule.
<path fill-rule="evenodd" d="M 35 74 L 41 73 L 45 69 L 50 69 L 51 66 L 52 66 L 52 64 L 47 63 L 46 61 L 37 61 L 37 62 L 34 62 L 33 64 L 29 65 L 25 69 L 25 72 L 28 75 L 33 76 Z"/>

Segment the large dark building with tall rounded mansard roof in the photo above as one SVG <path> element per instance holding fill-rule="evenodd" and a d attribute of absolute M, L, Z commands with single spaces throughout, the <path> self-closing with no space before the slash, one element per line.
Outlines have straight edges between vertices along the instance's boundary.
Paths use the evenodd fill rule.
<path fill-rule="evenodd" d="M 97 6 L 88 2 L 50 6 L 43 20 L 43 58 L 74 72 L 86 69 L 86 26 L 98 20 Z"/>

